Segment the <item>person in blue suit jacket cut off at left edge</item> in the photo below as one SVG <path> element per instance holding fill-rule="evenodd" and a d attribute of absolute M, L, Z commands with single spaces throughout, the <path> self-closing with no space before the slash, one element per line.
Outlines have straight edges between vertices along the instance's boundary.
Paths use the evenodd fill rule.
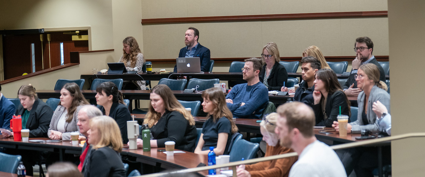
<path fill-rule="evenodd" d="M 15 113 L 16 107 L 1 93 L 0 85 L 0 128 L 9 129 L 10 128 L 10 119 L 12 119 L 13 114 Z"/>

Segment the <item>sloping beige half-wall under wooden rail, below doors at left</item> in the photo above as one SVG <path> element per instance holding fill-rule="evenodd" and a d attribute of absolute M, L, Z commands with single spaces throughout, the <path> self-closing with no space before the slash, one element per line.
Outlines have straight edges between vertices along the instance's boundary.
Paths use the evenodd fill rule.
<path fill-rule="evenodd" d="M 57 79 L 79 79 L 80 72 L 78 66 L 67 67 L 50 73 L 2 84 L 2 93 L 6 98 L 17 98 L 19 87 L 23 84 L 32 84 L 37 90 L 52 90 Z"/>

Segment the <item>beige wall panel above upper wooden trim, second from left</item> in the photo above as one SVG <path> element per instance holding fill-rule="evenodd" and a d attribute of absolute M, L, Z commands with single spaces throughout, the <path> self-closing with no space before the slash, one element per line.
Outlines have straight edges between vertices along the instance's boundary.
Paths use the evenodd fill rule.
<path fill-rule="evenodd" d="M 259 0 L 201 0 L 187 1 L 187 17 L 210 17 L 261 14 Z"/>

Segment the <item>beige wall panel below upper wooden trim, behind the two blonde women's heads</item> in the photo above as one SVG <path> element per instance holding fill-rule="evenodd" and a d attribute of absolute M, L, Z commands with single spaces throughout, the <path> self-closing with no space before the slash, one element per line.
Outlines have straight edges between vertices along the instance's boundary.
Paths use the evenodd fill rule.
<path fill-rule="evenodd" d="M 319 47 L 325 56 L 338 56 L 340 51 L 339 19 L 268 21 L 261 24 L 262 46 L 275 42 L 281 57 L 302 56 L 302 52 L 311 45 Z"/>

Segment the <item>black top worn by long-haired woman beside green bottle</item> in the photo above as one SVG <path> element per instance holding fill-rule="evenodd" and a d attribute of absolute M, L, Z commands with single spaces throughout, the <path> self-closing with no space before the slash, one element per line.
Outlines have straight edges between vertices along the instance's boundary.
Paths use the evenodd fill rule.
<path fill-rule="evenodd" d="M 165 110 L 158 123 L 150 128 L 150 132 L 158 147 L 165 147 L 165 141 L 174 141 L 176 149 L 189 152 L 195 150 L 196 127 L 189 125 L 189 121 L 178 111 Z"/>

